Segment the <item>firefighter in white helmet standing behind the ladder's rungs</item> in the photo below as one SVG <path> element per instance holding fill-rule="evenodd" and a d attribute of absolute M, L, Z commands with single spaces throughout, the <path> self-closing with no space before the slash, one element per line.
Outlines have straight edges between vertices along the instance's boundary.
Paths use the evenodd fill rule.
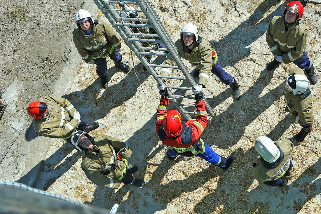
<path fill-rule="evenodd" d="M 124 18 L 137 18 L 137 19 L 146 19 L 146 16 L 143 12 L 136 12 L 136 9 L 134 7 L 127 7 L 124 6 L 124 9 L 122 9 L 122 17 Z M 128 21 L 127 23 L 139 23 L 139 24 L 148 24 L 147 22 L 142 21 Z M 139 34 L 157 34 L 156 31 L 153 28 L 146 28 L 146 27 L 130 27 L 134 33 Z M 151 36 L 136 36 L 137 38 L 142 39 L 155 39 Z M 142 45 L 144 47 L 153 47 L 153 49 L 158 50 L 159 48 L 166 48 L 163 43 L 156 43 L 156 42 L 142 42 Z M 150 50 L 144 49 L 145 52 L 150 52 Z M 152 55 L 145 55 L 147 60 L 150 62 Z M 146 67 L 143 67 L 143 70 L 147 70 Z"/>

